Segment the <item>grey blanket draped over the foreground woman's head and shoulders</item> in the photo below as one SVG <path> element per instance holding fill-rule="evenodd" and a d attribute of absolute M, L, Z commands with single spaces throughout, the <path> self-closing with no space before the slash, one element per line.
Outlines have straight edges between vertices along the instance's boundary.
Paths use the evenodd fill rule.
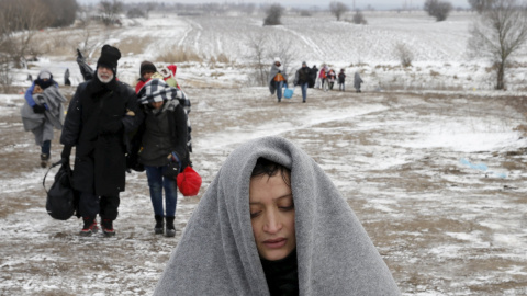
<path fill-rule="evenodd" d="M 259 158 L 290 170 L 295 249 L 287 260 L 298 262 L 298 295 L 400 295 L 329 178 L 280 137 L 250 140 L 231 153 L 194 209 L 154 295 L 270 295 L 249 206 Z"/>

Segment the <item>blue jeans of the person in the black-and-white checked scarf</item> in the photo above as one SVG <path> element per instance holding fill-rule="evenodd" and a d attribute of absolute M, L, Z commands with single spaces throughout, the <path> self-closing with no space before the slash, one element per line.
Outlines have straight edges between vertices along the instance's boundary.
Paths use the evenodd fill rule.
<path fill-rule="evenodd" d="M 167 167 L 145 166 L 148 187 L 150 189 L 150 201 L 154 207 L 154 214 L 166 217 L 176 216 L 176 205 L 178 203 L 178 186 L 175 178 L 165 178 L 162 172 Z M 162 189 L 165 189 L 166 215 L 162 210 Z"/>

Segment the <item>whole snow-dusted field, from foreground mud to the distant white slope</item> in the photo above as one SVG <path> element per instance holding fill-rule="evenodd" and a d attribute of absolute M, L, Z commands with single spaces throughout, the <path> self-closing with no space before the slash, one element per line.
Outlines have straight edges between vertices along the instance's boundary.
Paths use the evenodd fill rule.
<path fill-rule="evenodd" d="M 489 65 L 463 57 L 471 14 L 442 23 L 421 13 L 366 18 L 368 26 L 317 15 L 261 27 L 256 16 L 159 15 L 101 33 L 99 42 L 125 48 L 131 41 L 149 41 L 144 52 L 123 53 L 119 76 L 130 83 L 139 62 L 162 48 L 184 44 L 236 59 L 221 67 L 178 65 L 192 101 L 192 160 L 203 177 L 201 194 L 237 145 L 280 135 L 330 175 L 404 295 L 526 295 L 525 68 L 511 70 L 507 92 L 492 91 Z M 296 90 L 278 104 L 267 88 L 244 82 L 247 43 L 258 34 L 290 41 L 298 65 L 327 62 L 351 76 L 359 69 L 351 65 L 360 64 L 365 92 L 350 92 L 349 83 L 347 92 L 310 90 L 302 104 Z M 396 66 L 392 47 L 399 41 L 416 48 L 410 69 Z M 74 83 L 80 80 L 74 53 L 35 66 L 16 72 L 21 90 L 27 72 L 35 77 L 40 67 L 58 81 L 68 67 Z M 200 196 L 179 197 L 175 239 L 155 236 L 146 178 L 132 173 L 117 236 L 78 237 L 80 220 L 53 220 L 45 213 L 45 170 L 32 135 L 23 132 L 22 103 L 20 94 L 0 94 L 0 294 L 150 295 Z M 58 160 L 58 135 L 52 148 Z"/>

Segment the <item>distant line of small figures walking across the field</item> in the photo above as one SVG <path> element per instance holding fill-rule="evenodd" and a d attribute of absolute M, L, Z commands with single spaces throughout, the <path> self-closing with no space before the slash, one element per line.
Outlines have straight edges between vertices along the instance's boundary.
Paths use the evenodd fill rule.
<path fill-rule="evenodd" d="M 280 103 L 282 101 L 282 88 L 288 87 L 288 75 L 279 57 L 274 58 L 274 62 L 269 70 L 268 82 L 269 91 L 271 94 L 277 93 L 277 99 Z M 346 90 L 345 69 L 340 69 L 337 75 L 334 69 L 330 69 L 326 65 L 323 65 L 321 70 L 318 70 L 316 65 L 314 65 L 313 68 L 309 68 L 307 64 L 302 61 L 302 67 L 295 72 L 293 86 L 300 87 L 302 91 L 302 103 L 305 103 L 307 99 L 307 88 L 327 91 L 333 90 L 335 82 L 337 82 L 339 91 Z M 362 82 L 360 73 L 356 71 L 354 76 L 354 88 L 356 92 L 361 92 L 360 87 Z"/>

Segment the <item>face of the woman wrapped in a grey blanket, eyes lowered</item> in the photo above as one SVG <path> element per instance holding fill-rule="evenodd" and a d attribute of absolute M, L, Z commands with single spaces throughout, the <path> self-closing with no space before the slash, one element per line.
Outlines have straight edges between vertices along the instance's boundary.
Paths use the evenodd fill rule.
<path fill-rule="evenodd" d="M 296 248 L 296 237 L 293 195 L 280 172 L 250 179 L 249 207 L 260 257 L 270 261 L 284 259 Z"/>

